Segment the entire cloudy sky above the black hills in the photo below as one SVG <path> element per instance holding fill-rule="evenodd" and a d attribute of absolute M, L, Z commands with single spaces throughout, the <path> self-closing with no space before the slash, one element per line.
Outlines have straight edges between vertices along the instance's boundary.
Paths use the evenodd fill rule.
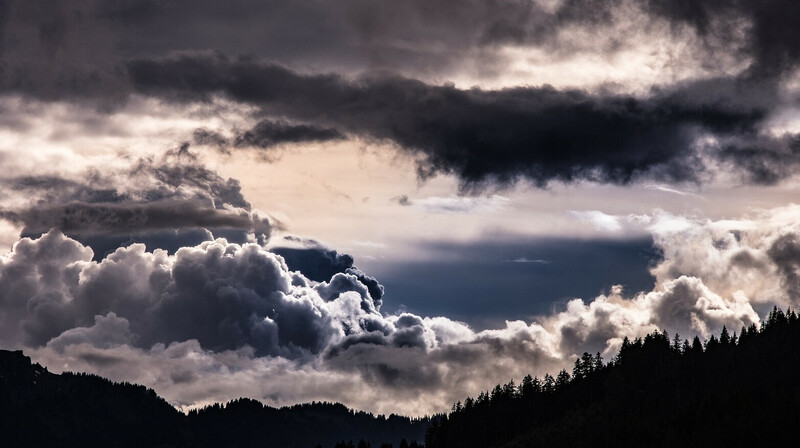
<path fill-rule="evenodd" d="M 800 3 L 0 0 L 0 348 L 411 416 L 800 301 Z"/>

